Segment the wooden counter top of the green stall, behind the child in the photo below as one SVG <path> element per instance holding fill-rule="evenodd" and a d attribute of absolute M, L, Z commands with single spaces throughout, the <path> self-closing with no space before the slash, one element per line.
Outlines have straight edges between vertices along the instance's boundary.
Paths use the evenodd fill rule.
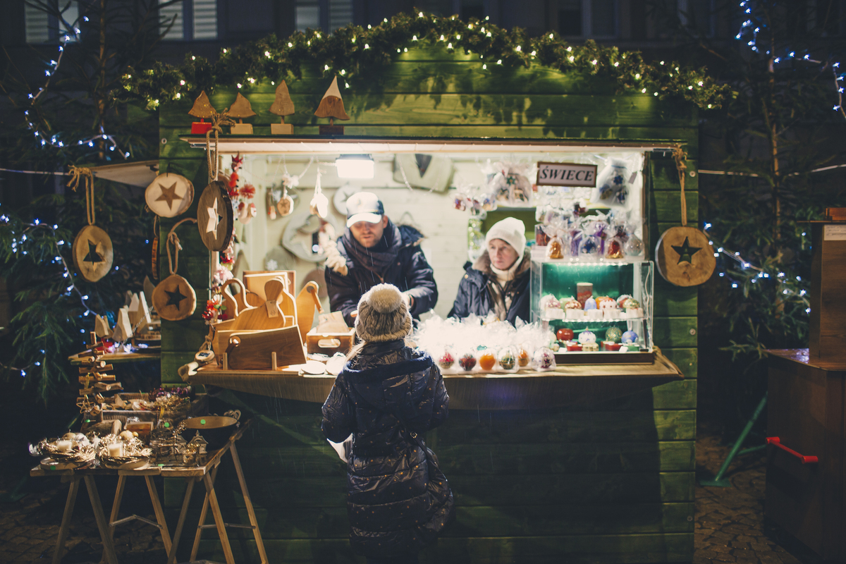
<path fill-rule="evenodd" d="M 556 370 L 516 374 L 444 375 L 450 409 L 554 408 L 628 396 L 670 381 L 684 380 L 678 367 L 656 348 L 651 364 L 567 364 Z M 326 401 L 335 377 L 299 371 L 221 370 L 204 366 L 190 384 L 301 402 Z"/>

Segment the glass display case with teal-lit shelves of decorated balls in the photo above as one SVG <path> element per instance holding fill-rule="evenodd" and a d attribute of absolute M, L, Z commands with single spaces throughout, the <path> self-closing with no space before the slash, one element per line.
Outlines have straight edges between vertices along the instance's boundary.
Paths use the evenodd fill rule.
<path fill-rule="evenodd" d="M 549 259 L 533 249 L 531 320 L 556 333 L 556 361 L 652 362 L 653 272 L 650 260 Z"/>

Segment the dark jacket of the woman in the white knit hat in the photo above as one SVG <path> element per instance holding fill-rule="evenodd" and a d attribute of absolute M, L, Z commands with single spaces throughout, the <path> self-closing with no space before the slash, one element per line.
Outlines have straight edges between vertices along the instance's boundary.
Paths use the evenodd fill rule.
<path fill-rule="evenodd" d="M 505 319 L 511 325 L 514 325 L 518 317 L 526 322 L 530 321 L 530 270 L 530 252 L 526 249 L 523 260 L 517 267 L 514 280 L 508 282 L 503 288 L 503 294 L 511 294 L 511 307 L 508 308 Z M 459 282 L 459 293 L 455 296 L 455 303 L 448 317 L 464 319 L 470 314 L 482 317 L 488 315 L 494 310 L 488 284 L 496 283 L 497 275 L 491 270 L 491 258 L 487 253 L 482 253 L 473 266 L 467 268 L 464 277 Z"/>

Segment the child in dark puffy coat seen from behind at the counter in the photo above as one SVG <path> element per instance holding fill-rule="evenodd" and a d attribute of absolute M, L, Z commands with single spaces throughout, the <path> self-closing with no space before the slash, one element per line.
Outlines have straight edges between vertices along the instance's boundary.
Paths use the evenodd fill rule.
<path fill-rule="evenodd" d="M 332 442 L 351 434 L 347 462 L 349 542 L 376 562 L 414 563 L 453 512 L 453 494 L 422 434 L 447 419 L 449 396 L 427 353 L 407 347 L 411 315 L 390 284 L 358 303 L 360 337 L 323 404 Z"/>

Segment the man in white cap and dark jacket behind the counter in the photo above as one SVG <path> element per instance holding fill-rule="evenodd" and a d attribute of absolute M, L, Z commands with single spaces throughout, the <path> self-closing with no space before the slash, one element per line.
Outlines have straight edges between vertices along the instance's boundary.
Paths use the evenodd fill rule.
<path fill-rule="evenodd" d="M 332 311 L 343 313 L 350 327 L 361 296 L 376 284 L 393 284 L 409 302 L 411 315 L 435 307 L 434 272 L 420 249 L 423 235 L 414 227 L 396 226 L 372 192 L 347 200 L 347 228 L 337 248 L 329 245 L 326 285 Z"/>

